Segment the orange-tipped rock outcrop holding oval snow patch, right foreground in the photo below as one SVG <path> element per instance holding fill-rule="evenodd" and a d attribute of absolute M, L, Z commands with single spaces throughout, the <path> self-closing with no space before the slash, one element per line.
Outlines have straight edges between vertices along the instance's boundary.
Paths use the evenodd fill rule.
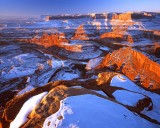
<path fill-rule="evenodd" d="M 148 110 L 152 110 L 153 108 L 153 103 L 150 97 L 145 96 L 143 94 L 137 94 L 134 91 L 129 91 L 124 89 L 123 87 L 118 87 L 116 85 L 111 85 L 111 80 L 113 79 L 113 77 L 118 76 L 120 79 L 125 80 L 125 78 L 121 77 L 121 74 L 119 73 L 115 73 L 115 72 L 102 72 L 100 74 L 98 74 L 98 79 L 97 84 L 98 86 L 111 98 L 114 98 L 117 102 L 122 103 L 123 105 L 125 105 L 126 107 L 128 107 L 129 109 L 136 111 L 136 112 L 141 112 L 144 110 L 144 108 L 148 108 Z M 137 100 L 135 100 L 134 102 L 132 102 L 130 104 L 130 100 L 128 100 L 126 103 L 124 103 L 123 101 L 119 100 L 119 98 L 121 97 L 121 95 L 126 95 L 126 96 L 130 96 L 130 98 L 132 98 L 132 96 L 134 97 L 139 97 Z M 122 99 L 124 97 L 122 96 Z M 126 99 L 127 100 L 127 99 Z"/>

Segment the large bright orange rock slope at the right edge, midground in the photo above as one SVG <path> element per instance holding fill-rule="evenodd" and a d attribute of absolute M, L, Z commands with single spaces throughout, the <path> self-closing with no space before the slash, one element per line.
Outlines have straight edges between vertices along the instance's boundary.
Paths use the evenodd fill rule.
<path fill-rule="evenodd" d="M 108 54 L 97 68 L 116 65 L 117 71 L 134 81 L 140 78 L 143 87 L 150 90 L 160 89 L 160 65 L 131 48 L 121 48 Z"/>

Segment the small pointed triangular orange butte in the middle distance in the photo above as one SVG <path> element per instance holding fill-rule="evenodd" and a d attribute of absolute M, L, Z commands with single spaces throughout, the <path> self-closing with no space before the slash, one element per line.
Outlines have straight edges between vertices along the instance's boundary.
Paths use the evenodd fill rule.
<path fill-rule="evenodd" d="M 72 40 L 89 40 L 83 24 L 77 28 L 74 36 L 71 39 Z"/>

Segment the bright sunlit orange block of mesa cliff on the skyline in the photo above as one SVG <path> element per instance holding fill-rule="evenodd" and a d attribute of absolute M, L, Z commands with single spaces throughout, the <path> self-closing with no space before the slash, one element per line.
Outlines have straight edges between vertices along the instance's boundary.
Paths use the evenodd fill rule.
<path fill-rule="evenodd" d="M 122 21 L 129 21 L 132 20 L 132 13 L 121 13 L 121 14 L 113 14 L 111 20 L 122 20 Z"/>

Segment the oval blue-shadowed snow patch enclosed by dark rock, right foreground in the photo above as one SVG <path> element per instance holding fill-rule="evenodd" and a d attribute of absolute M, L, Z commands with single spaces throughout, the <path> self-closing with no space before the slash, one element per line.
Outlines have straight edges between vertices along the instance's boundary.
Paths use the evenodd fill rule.
<path fill-rule="evenodd" d="M 126 91 L 126 90 L 117 90 L 113 93 L 113 96 L 116 100 L 124 105 L 136 106 L 139 100 L 145 98 L 142 94 Z"/>

